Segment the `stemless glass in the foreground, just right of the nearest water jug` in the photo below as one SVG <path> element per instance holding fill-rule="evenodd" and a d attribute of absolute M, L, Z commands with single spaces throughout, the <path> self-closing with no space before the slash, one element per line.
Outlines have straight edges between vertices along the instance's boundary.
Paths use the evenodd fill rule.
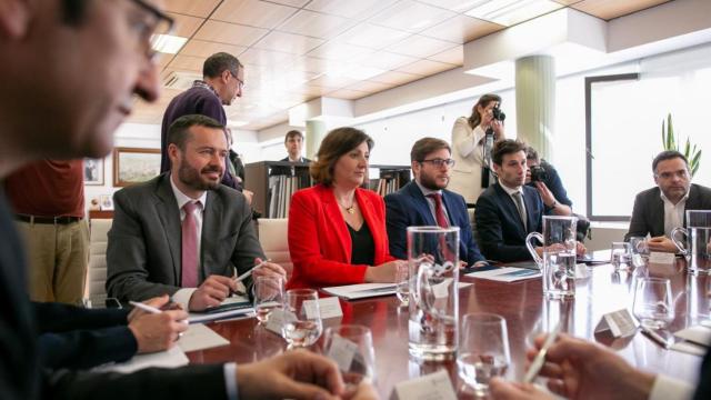
<path fill-rule="evenodd" d="M 465 314 L 462 320 L 459 376 L 478 397 L 484 397 L 491 378 L 504 376 L 511 364 L 507 322 L 501 316 L 485 312 Z"/>

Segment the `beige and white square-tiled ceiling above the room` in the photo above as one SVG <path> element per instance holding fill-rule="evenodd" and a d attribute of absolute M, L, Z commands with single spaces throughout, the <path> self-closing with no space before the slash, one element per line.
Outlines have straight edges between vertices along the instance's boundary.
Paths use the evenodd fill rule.
<path fill-rule="evenodd" d="M 668 0 L 554 0 L 611 20 Z M 507 27 L 465 14 L 472 0 L 166 0 L 173 34 L 189 38 L 162 54 L 161 77 L 200 74 L 210 54 L 227 51 L 246 64 L 241 99 L 230 121 L 259 130 L 288 110 L 328 96 L 361 99 L 463 64 L 463 43 Z M 180 90 L 136 107 L 129 122 L 160 123 Z"/>

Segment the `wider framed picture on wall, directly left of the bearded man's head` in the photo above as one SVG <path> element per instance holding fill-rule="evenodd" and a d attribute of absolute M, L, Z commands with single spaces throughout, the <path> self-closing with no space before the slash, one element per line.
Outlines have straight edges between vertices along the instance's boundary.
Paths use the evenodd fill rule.
<path fill-rule="evenodd" d="M 116 148 L 113 186 L 127 187 L 160 174 L 160 149 Z"/>

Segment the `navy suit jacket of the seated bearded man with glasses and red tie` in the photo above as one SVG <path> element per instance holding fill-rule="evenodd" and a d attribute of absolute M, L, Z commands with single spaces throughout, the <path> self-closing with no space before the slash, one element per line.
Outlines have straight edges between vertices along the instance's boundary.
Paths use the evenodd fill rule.
<path fill-rule="evenodd" d="M 464 198 L 449 190 L 442 190 L 442 203 L 447 209 L 450 224 L 459 227 L 459 259 L 467 261 L 469 266 L 483 261 L 484 258 L 474 242 Z M 437 226 L 428 200 L 413 181 L 397 192 L 385 196 L 385 220 L 390 253 L 400 259 L 408 258 L 408 227 Z"/>

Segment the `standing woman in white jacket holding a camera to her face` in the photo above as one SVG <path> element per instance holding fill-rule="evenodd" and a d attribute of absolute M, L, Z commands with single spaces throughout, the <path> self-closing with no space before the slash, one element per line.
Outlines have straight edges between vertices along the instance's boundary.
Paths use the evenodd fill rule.
<path fill-rule="evenodd" d="M 505 139 L 503 120 L 505 114 L 499 109 L 501 98 L 497 94 L 482 96 L 471 110 L 471 116 L 460 117 L 452 128 L 452 169 L 449 188 L 463 196 L 467 206 L 473 207 L 479 194 L 491 177 L 491 148 L 494 142 Z"/>

